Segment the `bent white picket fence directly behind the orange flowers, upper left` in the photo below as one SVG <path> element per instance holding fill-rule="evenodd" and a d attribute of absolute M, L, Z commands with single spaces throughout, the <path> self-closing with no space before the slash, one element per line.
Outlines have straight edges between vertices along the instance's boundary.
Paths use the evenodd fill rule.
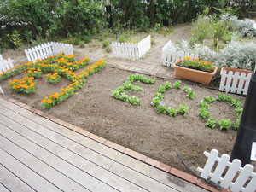
<path fill-rule="evenodd" d="M 62 44 L 57 42 L 50 42 L 47 44 L 40 44 L 38 46 L 26 49 L 26 58 L 28 61 L 43 60 L 50 55 L 57 55 L 60 52 L 65 55 L 73 55 L 72 44 Z"/>

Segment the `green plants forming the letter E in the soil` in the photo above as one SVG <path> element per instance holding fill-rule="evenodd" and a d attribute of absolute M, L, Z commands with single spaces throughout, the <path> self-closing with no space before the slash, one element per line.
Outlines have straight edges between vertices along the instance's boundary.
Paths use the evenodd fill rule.
<path fill-rule="evenodd" d="M 143 77 L 143 75 L 137 73 L 131 74 L 126 79 L 124 84 L 119 86 L 116 90 L 112 91 L 111 96 L 123 102 L 129 102 L 132 105 L 138 105 L 140 100 L 137 96 L 128 96 L 125 94 L 125 90 L 129 90 L 130 92 L 137 92 L 143 90 L 142 87 L 132 84 L 134 81 L 142 82 L 143 84 L 154 84 L 155 79 Z"/>

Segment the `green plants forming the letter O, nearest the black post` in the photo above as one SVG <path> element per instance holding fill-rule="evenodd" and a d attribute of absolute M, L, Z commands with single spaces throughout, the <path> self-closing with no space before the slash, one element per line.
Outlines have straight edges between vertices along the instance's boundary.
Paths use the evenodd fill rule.
<path fill-rule="evenodd" d="M 212 103 L 212 102 L 229 102 L 232 107 L 235 108 L 236 111 L 236 122 L 231 124 L 230 119 L 220 119 L 217 121 L 216 119 L 210 117 L 210 112 L 209 112 L 209 105 L 207 103 Z M 212 96 L 207 96 L 200 102 L 200 107 L 199 108 L 199 115 L 201 116 L 202 119 L 207 119 L 206 126 L 214 129 L 217 125 L 219 125 L 219 130 L 227 130 L 232 127 L 234 130 L 237 130 L 240 124 L 241 120 L 241 113 L 242 113 L 242 108 L 241 108 L 241 102 L 237 101 L 236 99 L 232 98 L 231 96 L 226 96 L 223 94 L 218 94 L 216 98 L 213 98 Z"/>

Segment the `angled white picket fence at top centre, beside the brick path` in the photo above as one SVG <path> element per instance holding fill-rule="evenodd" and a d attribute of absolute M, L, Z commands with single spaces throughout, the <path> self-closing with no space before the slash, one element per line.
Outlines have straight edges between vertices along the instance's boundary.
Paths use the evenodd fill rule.
<path fill-rule="evenodd" d="M 112 54 L 116 57 L 132 58 L 133 60 L 141 58 L 151 48 L 151 38 L 143 38 L 137 44 L 112 42 Z"/>

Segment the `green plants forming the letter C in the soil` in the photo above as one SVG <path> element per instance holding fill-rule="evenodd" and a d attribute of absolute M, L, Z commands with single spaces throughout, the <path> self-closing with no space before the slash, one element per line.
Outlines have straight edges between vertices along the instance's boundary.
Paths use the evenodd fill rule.
<path fill-rule="evenodd" d="M 181 83 L 180 80 L 174 82 L 173 88 L 181 89 L 180 83 Z M 170 82 L 160 84 L 158 88 L 158 92 L 154 94 L 154 98 L 151 102 L 151 105 L 157 108 L 157 113 L 168 114 L 171 117 L 175 117 L 177 113 L 180 113 L 180 114 L 183 114 L 183 116 L 186 116 L 187 111 L 189 109 L 188 106 L 179 105 L 179 108 L 171 108 L 171 107 L 167 107 L 166 102 L 164 102 L 164 96 L 162 94 L 164 94 L 166 90 L 171 90 L 171 89 L 172 89 L 172 84 Z M 189 99 L 195 98 L 195 91 L 189 88 L 188 86 L 184 86 L 182 90 L 184 90 L 184 92 L 186 93 L 186 96 L 189 97 Z"/>

